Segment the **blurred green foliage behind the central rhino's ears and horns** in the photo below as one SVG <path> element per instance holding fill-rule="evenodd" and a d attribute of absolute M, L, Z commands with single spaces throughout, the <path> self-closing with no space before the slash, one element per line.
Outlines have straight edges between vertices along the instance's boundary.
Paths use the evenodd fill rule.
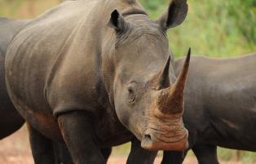
<path fill-rule="evenodd" d="M 164 0 L 141 0 L 152 18 L 164 11 Z M 183 56 L 192 54 L 229 57 L 256 51 L 255 0 L 205 0 L 188 2 L 188 17 L 169 30 L 170 50 Z"/>

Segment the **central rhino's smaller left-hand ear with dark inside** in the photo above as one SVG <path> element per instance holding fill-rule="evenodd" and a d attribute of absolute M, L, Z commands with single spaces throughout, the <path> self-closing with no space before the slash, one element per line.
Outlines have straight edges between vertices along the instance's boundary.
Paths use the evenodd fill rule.
<path fill-rule="evenodd" d="M 117 32 L 120 32 L 126 28 L 126 22 L 123 16 L 117 10 L 114 10 L 111 13 L 111 18 L 108 21 L 108 26 L 114 28 Z"/>

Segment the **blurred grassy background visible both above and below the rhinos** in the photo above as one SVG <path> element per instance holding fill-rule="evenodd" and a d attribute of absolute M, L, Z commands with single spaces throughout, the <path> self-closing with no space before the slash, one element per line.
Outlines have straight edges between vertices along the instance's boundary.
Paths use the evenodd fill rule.
<path fill-rule="evenodd" d="M 61 0 L 0 0 L 0 16 L 15 19 L 33 18 Z M 152 19 L 166 9 L 167 0 L 139 0 Z M 192 54 L 210 57 L 231 57 L 256 51 L 256 0 L 188 0 L 188 17 L 182 25 L 168 32 L 174 58 L 183 56 L 188 47 Z M 130 145 L 114 149 L 126 155 Z M 189 153 L 192 155 L 192 153 Z M 224 161 L 256 162 L 256 154 L 218 149 Z"/>

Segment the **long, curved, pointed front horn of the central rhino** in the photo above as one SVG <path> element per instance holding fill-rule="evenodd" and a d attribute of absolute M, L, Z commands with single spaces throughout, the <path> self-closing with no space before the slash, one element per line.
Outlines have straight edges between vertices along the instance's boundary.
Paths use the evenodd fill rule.
<path fill-rule="evenodd" d="M 187 58 L 182 71 L 175 83 L 169 88 L 161 90 L 157 97 L 157 108 L 163 114 L 179 114 L 183 112 L 184 89 L 188 76 L 191 50 L 188 50 Z"/>

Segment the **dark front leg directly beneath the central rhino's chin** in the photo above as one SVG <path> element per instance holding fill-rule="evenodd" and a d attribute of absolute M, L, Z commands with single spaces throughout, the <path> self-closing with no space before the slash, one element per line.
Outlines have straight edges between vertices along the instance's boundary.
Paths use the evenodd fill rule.
<path fill-rule="evenodd" d="M 137 139 L 131 140 L 130 154 L 127 160 L 128 164 L 152 164 L 157 156 L 157 151 L 149 151 L 140 146 Z"/>

